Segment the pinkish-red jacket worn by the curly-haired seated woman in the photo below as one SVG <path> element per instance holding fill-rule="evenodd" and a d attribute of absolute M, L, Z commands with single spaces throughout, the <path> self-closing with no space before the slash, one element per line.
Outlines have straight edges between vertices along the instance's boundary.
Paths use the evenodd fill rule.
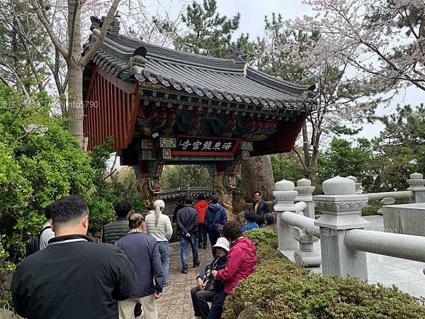
<path fill-rule="evenodd" d="M 254 272 L 256 265 L 254 242 L 241 238 L 230 246 L 225 269 L 217 272 L 217 278 L 225 281 L 225 293 L 232 294 L 234 287 L 242 279 Z"/>

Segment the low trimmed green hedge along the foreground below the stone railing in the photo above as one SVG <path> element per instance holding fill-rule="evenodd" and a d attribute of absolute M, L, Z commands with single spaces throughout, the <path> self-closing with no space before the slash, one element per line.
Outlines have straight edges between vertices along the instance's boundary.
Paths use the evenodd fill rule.
<path fill-rule="evenodd" d="M 322 276 L 280 257 L 277 232 L 244 233 L 256 242 L 258 264 L 227 297 L 226 319 L 425 318 L 417 298 L 396 286 L 369 285 L 355 278 Z"/>

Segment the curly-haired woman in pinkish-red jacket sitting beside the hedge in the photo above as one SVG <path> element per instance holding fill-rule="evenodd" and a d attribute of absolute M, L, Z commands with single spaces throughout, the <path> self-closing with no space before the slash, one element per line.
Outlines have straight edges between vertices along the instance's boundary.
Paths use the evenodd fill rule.
<path fill-rule="evenodd" d="M 207 319 L 220 319 L 223 304 L 227 296 L 233 293 L 239 281 L 246 279 L 254 272 L 256 265 L 256 249 L 254 242 L 242 236 L 242 225 L 236 220 L 229 220 L 222 229 L 222 236 L 230 243 L 229 254 L 225 269 L 213 270 L 211 273 L 218 279 L 225 281 L 225 289 L 215 295 Z"/>

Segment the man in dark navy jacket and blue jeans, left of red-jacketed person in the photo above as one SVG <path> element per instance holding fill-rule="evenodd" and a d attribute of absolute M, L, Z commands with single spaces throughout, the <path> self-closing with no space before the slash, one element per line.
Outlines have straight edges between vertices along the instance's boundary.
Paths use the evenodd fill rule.
<path fill-rule="evenodd" d="M 191 244 L 193 254 L 193 268 L 200 265 L 198 258 L 198 212 L 192 207 L 193 198 L 184 198 L 185 206 L 176 214 L 177 233 L 181 245 L 181 273 L 188 273 L 188 244 Z"/>

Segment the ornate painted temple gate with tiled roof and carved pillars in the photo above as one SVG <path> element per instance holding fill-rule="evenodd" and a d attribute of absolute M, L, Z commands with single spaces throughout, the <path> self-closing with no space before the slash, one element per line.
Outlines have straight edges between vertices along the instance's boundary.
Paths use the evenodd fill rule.
<path fill-rule="evenodd" d="M 94 45 L 103 20 L 91 18 Z M 84 69 L 84 136 L 93 150 L 113 136 L 120 164 L 135 169 L 153 201 L 164 164 L 204 164 L 232 217 L 235 174 L 252 156 L 289 152 L 314 110 L 314 86 L 250 67 L 235 50 L 218 59 L 144 43 L 119 33 L 115 17 Z"/>

